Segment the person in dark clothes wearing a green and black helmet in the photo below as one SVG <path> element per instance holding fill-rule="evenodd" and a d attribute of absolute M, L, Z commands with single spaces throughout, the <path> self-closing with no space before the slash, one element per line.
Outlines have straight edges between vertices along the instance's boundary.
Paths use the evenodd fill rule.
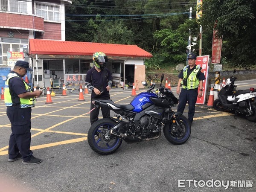
<path fill-rule="evenodd" d="M 90 109 L 94 108 L 94 99 L 110 99 L 109 90 L 112 86 L 112 76 L 105 68 L 108 64 L 108 57 L 104 52 L 93 54 L 94 67 L 88 70 L 85 78 L 85 85 L 92 90 Z M 110 116 L 110 109 L 101 107 L 103 118 Z M 99 108 L 95 108 L 90 113 L 91 125 L 99 119 Z"/>

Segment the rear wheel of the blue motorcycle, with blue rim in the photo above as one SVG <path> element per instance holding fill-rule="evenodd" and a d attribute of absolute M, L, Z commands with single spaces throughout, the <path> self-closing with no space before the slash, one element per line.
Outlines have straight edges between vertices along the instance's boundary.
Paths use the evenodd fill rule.
<path fill-rule="evenodd" d="M 98 154 L 108 155 L 114 153 L 122 144 L 122 140 L 110 136 L 108 140 L 103 137 L 104 134 L 111 129 L 116 122 L 113 119 L 99 119 L 91 125 L 87 140 L 90 148 Z"/>

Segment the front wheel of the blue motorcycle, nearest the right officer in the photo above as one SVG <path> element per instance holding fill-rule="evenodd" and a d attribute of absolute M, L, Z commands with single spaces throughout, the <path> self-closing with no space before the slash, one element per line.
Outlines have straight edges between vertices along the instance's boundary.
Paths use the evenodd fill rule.
<path fill-rule="evenodd" d="M 185 143 L 189 139 L 191 133 L 189 120 L 184 115 L 180 116 L 180 121 L 178 123 L 180 126 L 176 123 L 170 122 L 163 128 L 163 134 L 164 137 L 166 137 L 166 140 L 175 145 Z"/>

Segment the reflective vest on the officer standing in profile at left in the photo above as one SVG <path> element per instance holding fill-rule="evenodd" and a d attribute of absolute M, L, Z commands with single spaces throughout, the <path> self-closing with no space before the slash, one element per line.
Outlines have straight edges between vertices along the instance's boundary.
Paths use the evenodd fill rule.
<path fill-rule="evenodd" d="M 7 107 L 12 106 L 15 101 L 15 103 L 20 103 L 20 108 L 35 107 L 35 97 L 23 99 L 23 98 L 19 98 L 18 96 L 11 95 L 10 89 L 9 89 L 9 80 L 13 77 L 19 77 L 19 76 L 17 76 L 16 73 L 9 73 L 9 75 L 7 76 L 7 79 L 6 79 L 5 86 L 4 86 L 4 102 L 5 102 L 6 106 Z M 26 88 L 27 92 L 32 92 L 31 87 L 29 87 L 29 85 L 26 84 L 26 82 L 24 80 L 23 80 L 23 83 L 25 84 L 25 88 Z"/>

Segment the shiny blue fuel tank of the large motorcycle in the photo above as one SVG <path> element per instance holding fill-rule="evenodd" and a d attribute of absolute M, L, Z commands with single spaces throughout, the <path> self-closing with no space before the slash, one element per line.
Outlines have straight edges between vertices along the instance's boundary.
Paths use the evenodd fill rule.
<path fill-rule="evenodd" d="M 135 96 L 134 99 L 131 101 L 131 105 L 134 106 L 134 112 L 140 113 L 143 109 L 153 105 L 153 102 L 150 101 L 150 97 L 157 98 L 157 95 L 154 93 L 140 93 L 139 95 Z"/>

